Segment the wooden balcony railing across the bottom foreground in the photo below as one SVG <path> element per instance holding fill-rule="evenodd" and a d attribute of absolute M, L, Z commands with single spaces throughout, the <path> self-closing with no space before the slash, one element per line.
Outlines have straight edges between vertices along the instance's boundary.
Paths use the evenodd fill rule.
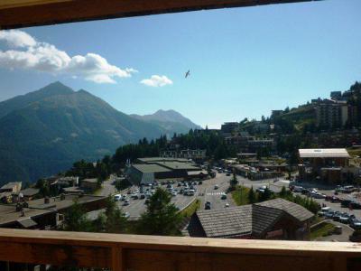
<path fill-rule="evenodd" d="M 0 261 L 112 270 L 361 270 L 361 244 L 0 229 Z"/>

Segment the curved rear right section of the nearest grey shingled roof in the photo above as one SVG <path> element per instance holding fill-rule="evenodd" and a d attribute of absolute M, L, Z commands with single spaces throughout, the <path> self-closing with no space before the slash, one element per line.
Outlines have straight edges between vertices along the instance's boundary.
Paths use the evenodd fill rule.
<path fill-rule="evenodd" d="M 270 207 L 277 210 L 283 210 L 287 212 L 289 215 L 291 215 L 294 219 L 299 220 L 301 222 L 305 220 L 309 220 L 311 217 L 314 216 L 314 214 L 310 212 L 310 210 L 307 210 L 301 205 L 283 199 L 264 201 L 260 203 L 255 203 L 255 205 Z"/>

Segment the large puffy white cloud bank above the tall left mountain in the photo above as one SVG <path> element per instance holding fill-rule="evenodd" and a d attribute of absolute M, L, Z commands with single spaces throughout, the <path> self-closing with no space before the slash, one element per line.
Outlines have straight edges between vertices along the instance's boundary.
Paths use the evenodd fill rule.
<path fill-rule="evenodd" d="M 128 78 L 138 72 L 133 68 L 122 70 L 96 53 L 70 57 L 66 51 L 46 42 L 36 42 L 22 31 L 0 31 L 1 40 L 11 47 L 24 49 L 0 51 L 0 68 L 65 73 L 72 78 L 81 77 L 96 83 L 116 83 L 116 78 Z"/>

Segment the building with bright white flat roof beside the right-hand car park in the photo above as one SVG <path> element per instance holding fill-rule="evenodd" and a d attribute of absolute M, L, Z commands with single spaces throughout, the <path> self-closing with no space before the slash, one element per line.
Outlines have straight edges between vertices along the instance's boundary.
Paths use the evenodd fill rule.
<path fill-rule="evenodd" d="M 355 167 L 349 167 L 350 155 L 345 148 L 300 149 L 299 154 L 303 181 L 352 182 L 358 175 Z"/>

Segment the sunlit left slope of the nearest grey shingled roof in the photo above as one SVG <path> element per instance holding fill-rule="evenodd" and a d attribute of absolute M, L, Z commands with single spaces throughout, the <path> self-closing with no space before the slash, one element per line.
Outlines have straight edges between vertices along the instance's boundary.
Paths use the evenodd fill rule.
<path fill-rule="evenodd" d="M 201 210 L 199 221 L 208 238 L 246 235 L 252 232 L 252 205 L 222 210 Z"/>

